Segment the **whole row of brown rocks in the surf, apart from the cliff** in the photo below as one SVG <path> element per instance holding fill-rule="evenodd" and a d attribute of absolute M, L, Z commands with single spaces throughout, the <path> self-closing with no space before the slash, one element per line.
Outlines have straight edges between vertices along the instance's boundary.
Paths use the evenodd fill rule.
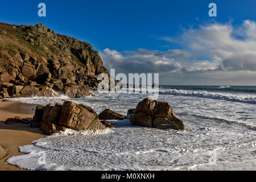
<path fill-rule="evenodd" d="M 130 119 L 131 124 L 157 129 L 184 130 L 183 121 L 178 119 L 168 102 L 159 102 L 145 98 L 139 102 L 136 109 L 129 109 L 127 116 L 105 109 L 97 114 L 91 107 L 65 101 L 63 105 L 38 105 L 32 121 L 20 117 L 8 118 L 6 124 L 30 123 L 31 127 L 40 127 L 47 135 L 73 130 L 103 130 L 114 127 L 106 120 Z"/>

